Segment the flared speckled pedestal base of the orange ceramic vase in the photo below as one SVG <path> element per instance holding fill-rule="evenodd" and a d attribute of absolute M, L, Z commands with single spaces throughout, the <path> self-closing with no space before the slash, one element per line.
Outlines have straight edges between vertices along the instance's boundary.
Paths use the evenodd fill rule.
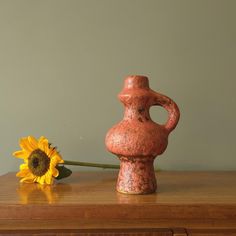
<path fill-rule="evenodd" d="M 116 190 L 125 194 L 156 192 L 157 183 L 153 157 L 119 157 L 120 171 Z"/>

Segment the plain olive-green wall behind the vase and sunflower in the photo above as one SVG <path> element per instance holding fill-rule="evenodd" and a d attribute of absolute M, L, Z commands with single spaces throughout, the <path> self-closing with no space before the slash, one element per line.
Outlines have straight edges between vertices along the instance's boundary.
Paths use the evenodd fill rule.
<path fill-rule="evenodd" d="M 157 166 L 236 170 L 235 12 L 233 0 L 0 0 L 0 173 L 18 169 L 27 135 L 67 160 L 118 163 L 104 137 L 130 74 L 181 110 Z"/>

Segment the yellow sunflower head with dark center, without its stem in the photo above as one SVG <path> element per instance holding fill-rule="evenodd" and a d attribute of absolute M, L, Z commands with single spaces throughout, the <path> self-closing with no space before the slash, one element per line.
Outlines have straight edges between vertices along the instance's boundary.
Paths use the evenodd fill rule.
<path fill-rule="evenodd" d="M 52 184 L 54 177 L 59 175 L 57 164 L 64 163 L 56 147 L 52 147 L 44 136 L 38 140 L 33 136 L 21 138 L 19 145 L 22 150 L 14 152 L 13 156 L 25 162 L 16 174 L 22 178 L 20 182 Z"/>

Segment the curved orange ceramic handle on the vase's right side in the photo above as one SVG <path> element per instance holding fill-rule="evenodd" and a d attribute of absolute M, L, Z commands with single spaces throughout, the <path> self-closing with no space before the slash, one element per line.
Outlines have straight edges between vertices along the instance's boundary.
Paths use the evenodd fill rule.
<path fill-rule="evenodd" d="M 165 129 L 170 133 L 178 124 L 180 111 L 177 104 L 169 97 L 153 91 L 153 100 L 151 105 L 162 106 L 168 112 L 168 120 L 164 124 Z"/>

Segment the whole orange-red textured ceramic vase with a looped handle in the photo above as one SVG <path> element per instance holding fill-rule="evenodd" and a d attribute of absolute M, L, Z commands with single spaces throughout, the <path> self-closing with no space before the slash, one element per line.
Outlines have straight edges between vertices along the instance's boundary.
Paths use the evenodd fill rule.
<path fill-rule="evenodd" d="M 149 88 L 145 76 L 129 76 L 118 95 L 125 106 L 123 120 L 106 135 L 106 147 L 120 159 L 117 191 L 127 194 L 147 194 L 156 191 L 154 159 L 162 154 L 168 136 L 179 121 L 179 109 L 169 97 Z M 164 125 L 152 121 L 151 106 L 162 106 L 168 111 Z"/>

